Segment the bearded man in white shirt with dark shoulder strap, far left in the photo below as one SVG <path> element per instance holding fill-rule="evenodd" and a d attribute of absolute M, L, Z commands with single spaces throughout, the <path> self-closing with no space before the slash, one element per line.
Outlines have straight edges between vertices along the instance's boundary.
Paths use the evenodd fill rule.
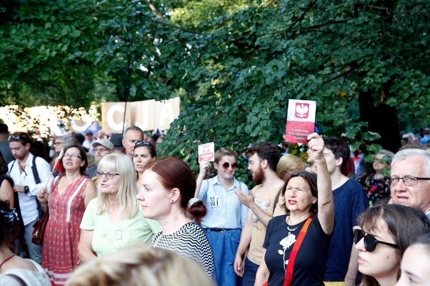
<path fill-rule="evenodd" d="M 14 180 L 19 206 L 24 222 L 24 238 L 30 258 L 42 263 L 42 247 L 31 242 L 33 225 L 39 220 L 37 193 L 52 180 L 51 167 L 41 157 L 30 153 L 31 139 L 25 132 L 15 132 L 8 137 L 9 147 L 15 160 L 8 164 L 9 176 Z"/>

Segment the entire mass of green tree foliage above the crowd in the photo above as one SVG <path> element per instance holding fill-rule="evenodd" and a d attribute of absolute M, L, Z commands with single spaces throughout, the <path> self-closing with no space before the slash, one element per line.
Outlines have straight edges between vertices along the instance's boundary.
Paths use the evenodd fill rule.
<path fill-rule="evenodd" d="M 344 134 L 365 152 L 381 148 L 374 140 L 395 151 L 399 129 L 430 122 L 423 0 L 33 0 L 6 9 L 2 102 L 181 96 L 164 156 L 195 162 L 198 142 L 239 154 L 282 142 L 288 99 L 315 100 L 320 133 Z"/>

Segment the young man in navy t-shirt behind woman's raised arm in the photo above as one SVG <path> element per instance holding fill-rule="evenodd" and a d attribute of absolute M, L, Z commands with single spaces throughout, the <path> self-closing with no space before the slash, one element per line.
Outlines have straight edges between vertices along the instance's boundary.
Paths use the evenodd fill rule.
<path fill-rule="evenodd" d="M 342 174 L 348 163 L 350 150 L 339 138 L 324 140 L 324 156 L 332 179 L 335 203 L 335 229 L 329 247 L 326 285 L 353 286 L 358 272 L 358 250 L 353 245 L 352 227 L 357 225 L 357 216 L 368 206 L 363 187 Z"/>

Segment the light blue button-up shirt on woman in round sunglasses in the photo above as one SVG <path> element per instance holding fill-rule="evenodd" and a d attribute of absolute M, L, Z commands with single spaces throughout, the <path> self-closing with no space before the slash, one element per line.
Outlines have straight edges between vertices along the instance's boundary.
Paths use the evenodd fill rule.
<path fill-rule="evenodd" d="M 198 198 L 207 207 L 201 222 L 203 228 L 242 229 L 245 226 L 248 207 L 240 202 L 235 190 L 249 195 L 248 187 L 233 177 L 233 186 L 226 191 L 218 176 L 203 180 Z"/>

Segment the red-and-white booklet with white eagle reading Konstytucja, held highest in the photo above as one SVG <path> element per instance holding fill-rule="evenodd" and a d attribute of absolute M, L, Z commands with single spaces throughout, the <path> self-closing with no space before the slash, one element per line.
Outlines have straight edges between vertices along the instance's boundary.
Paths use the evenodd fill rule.
<path fill-rule="evenodd" d="M 285 141 L 307 143 L 307 136 L 315 127 L 316 102 L 310 100 L 288 100 Z"/>

